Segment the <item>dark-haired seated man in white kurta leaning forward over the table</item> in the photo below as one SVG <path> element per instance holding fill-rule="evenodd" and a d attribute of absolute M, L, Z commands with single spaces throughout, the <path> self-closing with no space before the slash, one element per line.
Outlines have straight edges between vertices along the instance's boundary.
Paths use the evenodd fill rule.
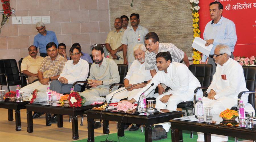
<path fill-rule="evenodd" d="M 138 101 L 141 93 L 150 87 L 152 83 L 154 83 L 154 85 L 145 92 L 145 95 L 151 92 L 160 83 L 171 88 L 168 92 L 165 92 L 156 98 L 156 108 L 176 110 L 178 103 L 193 100 L 195 88 L 200 87 L 201 85 L 186 65 L 172 62 L 172 57 L 169 52 L 158 53 L 156 55 L 156 65 L 159 71 L 152 78 L 150 83 L 143 87 L 143 89 L 141 89 L 133 99 L 129 100 L 129 102 L 135 103 Z M 202 94 L 203 92 L 200 91 L 197 96 L 201 97 Z M 152 130 L 152 139 L 154 140 L 167 138 L 166 132 L 168 132 L 171 127 L 170 123 L 167 122 L 160 125 L 157 128 L 161 128 L 165 131 L 162 135 L 159 135 L 159 133 L 154 133 L 154 130 Z"/>

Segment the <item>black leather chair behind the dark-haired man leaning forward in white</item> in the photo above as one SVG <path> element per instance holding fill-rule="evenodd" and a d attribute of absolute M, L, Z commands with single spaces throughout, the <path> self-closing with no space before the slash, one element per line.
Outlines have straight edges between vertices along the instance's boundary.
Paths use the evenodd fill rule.
<path fill-rule="evenodd" d="M 193 101 L 181 102 L 177 105 L 177 108 L 186 109 L 189 116 L 188 109 L 192 108 L 192 115 L 195 114 L 196 95 L 200 89 L 206 89 L 212 82 L 212 64 L 191 64 L 189 70 L 199 80 L 202 87 L 197 87 L 194 91 Z M 167 87 L 165 91 L 168 91 L 170 87 Z M 204 91 L 204 90 L 203 90 Z"/>

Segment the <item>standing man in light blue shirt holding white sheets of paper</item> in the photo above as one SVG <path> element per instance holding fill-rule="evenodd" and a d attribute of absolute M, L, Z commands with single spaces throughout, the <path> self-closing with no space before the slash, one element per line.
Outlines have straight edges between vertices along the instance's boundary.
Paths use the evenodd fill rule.
<path fill-rule="evenodd" d="M 236 36 L 236 26 L 231 20 L 224 18 L 222 16 L 223 5 L 214 1 L 210 3 L 210 17 L 211 21 L 205 26 L 204 40 L 207 41 L 205 46 L 213 44 L 212 50 L 210 51 L 208 64 L 213 65 L 213 74 L 216 72 L 216 64 L 213 60 L 213 53 L 216 45 L 225 44 L 230 47 L 231 57 L 234 58 L 233 52 L 235 49 L 237 36 Z M 207 56 L 203 55 L 202 64 L 205 64 Z"/>

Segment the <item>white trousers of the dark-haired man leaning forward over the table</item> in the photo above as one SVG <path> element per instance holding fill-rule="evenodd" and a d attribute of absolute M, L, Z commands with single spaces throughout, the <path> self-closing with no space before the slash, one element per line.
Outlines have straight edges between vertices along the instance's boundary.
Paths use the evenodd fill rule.
<path fill-rule="evenodd" d="M 162 97 L 164 97 L 165 95 L 170 95 L 172 93 L 172 91 L 168 91 L 166 93 L 163 93 L 162 95 L 159 95 L 156 98 L 156 108 L 160 108 L 160 109 L 168 109 L 168 110 L 177 110 L 177 105 L 182 101 L 181 96 L 178 95 L 172 95 L 167 103 L 162 103 L 159 99 L 161 99 Z M 167 106 L 166 106 L 167 105 Z M 166 132 L 168 132 L 171 128 L 171 123 L 169 122 L 164 122 L 164 123 L 160 123 L 157 125 L 162 125 L 163 128 L 166 130 Z"/>

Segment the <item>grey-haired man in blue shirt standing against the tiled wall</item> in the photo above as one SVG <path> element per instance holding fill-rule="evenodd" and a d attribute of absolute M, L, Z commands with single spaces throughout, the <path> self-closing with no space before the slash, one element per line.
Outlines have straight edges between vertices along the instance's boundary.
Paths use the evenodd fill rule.
<path fill-rule="evenodd" d="M 39 34 L 34 37 L 33 45 L 39 48 L 41 57 L 46 57 L 48 56 L 46 52 L 46 45 L 50 42 L 54 42 L 56 45 L 58 45 L 59 43 L 57 37 L 53 31 L 46 31 L 43 22 L 36 23 L 36 30 Z"/>

